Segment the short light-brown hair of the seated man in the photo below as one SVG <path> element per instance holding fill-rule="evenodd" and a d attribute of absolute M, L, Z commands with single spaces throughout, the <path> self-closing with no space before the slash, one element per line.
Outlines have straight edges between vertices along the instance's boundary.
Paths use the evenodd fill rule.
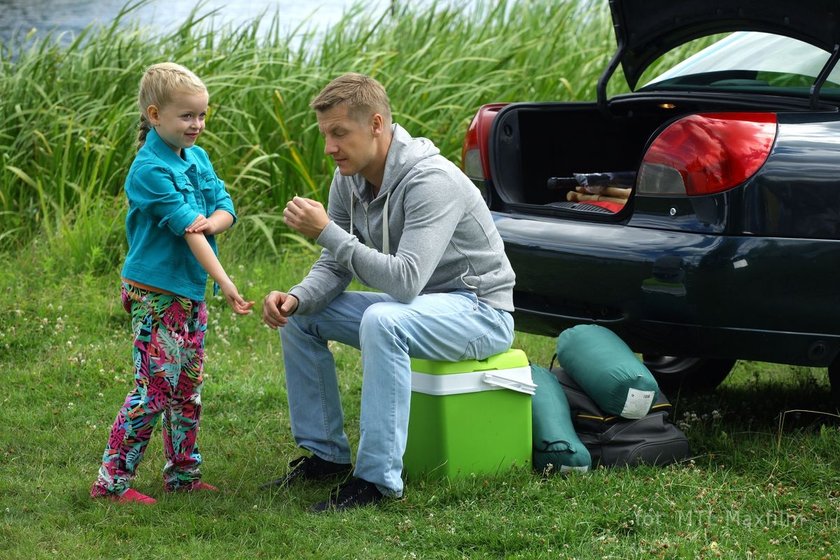
<path fill-rule="evenodd" d="M 385 124 L 391 124 L 391 102 L 385 88 L 370 76 L 350 72 L 331 81 L 309 103 L 317 112 L 329 111 L 345 104 L 351 117 L 366 119 L 373 113 L 381 114 Z"/>

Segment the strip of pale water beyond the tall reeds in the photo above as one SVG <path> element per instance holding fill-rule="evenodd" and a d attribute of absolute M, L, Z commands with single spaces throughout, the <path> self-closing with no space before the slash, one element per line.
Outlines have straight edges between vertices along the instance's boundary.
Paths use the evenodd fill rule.
<path fill-rule="evenodd" d="M 127 0 L 0 0 L 0 42 L 33 32 L 64 34 L 68 41 L 91 23 L 107 25 L 126 5 Z M 360 3 L 368 13 L 381 14 L 393 0 L 366 0 Z M 429 5 L 431 0 L 415 0 L 413 5 Z M 161 31 L 177 28 L 196 6 L 197 0 L 148 0 L 132 11 L 130 19 L 141 26 L 159 27 Z M 238 26 L 259 18 L 273 16 L 275 10 L 282 29 L 324 30 L 350 9 L 354 0 L 204 0 L 200 14 L 216 11 L 214 24 Z M 443 4 L 443 3 L 439 3 Z M 266 18 L 270 20 L 270 17 Z"/>

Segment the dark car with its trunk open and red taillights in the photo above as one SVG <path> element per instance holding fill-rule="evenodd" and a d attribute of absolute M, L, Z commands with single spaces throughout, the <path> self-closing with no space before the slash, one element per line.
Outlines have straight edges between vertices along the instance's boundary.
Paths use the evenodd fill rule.
<path fill-rule="evenodd" d="M 517 329 L 601 324 L 670 390 L 714 388 L 744 359 L 828 367 L 836 391 L 840 2 L 610 8 L 597 100 L 485 105 L 467 132 Z M 726 35 L 637 88 L 712 34 Z M 619 65 L 632 93 L 608 97 Z"/>

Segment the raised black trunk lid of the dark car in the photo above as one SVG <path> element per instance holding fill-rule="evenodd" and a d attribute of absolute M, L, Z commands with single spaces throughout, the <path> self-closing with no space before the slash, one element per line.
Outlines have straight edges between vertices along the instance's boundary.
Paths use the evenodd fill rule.
<path fill-rule="evenodd" d="M 775 33 L 828 52 L 840 45 L 838 0 L 610 0 L 610 10 L 631 89 L 666 52 L 716 33 Z"/>

